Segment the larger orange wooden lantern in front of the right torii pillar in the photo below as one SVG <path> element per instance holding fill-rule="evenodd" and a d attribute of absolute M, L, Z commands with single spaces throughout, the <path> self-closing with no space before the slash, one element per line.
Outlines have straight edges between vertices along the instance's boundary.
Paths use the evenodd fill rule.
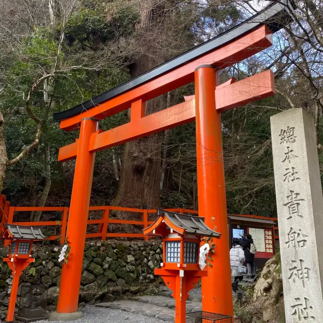
<path fill-rule="evenodd" d="M 199 264 L 201 239 L 220 238 L 221 234 L 211 230 L 204 218 L 187 216 L 157 209 L 158 218 L 143 230 L 144 235 L 161 236 L 163 239 L 163 262 L 155 269 L 175 298 L 175 323 L 185 323 L 186 300 L 207 270 Z"/>

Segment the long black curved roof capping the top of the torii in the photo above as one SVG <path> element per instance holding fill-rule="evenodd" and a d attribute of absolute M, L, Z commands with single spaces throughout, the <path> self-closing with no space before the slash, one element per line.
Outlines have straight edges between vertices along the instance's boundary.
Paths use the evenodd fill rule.
<path fill-rule="evenodd" d="M 125 82 L 111 90 L 103 92 L 93 98 L 71 107 L 71 109 L 53 114 L 53 119 L 61 121 L 82 113 L 102 102 L 105 102 L 117 95 L 127 92 L 143 83 L 146 83 L 162 74 L 174 70 L 183 64 L 198 58 L 205 53 L 225 45 L 232 40 L 241 37 L 251 30 L 267 25 L 273 32 L 276 32 L 284 27 L 286 21 L 291 19 L 290 11 L 294 8 L 294 2 L 291 0 L 279 0 L 264 8 L 259 13 L 253 15 L 239 25 L 225 31 L 224 33 L 211 38 L 202 44 L 193 47 L 192 49 L 182 53 L 181 55 L 165 62 L 131 80 Z"/>

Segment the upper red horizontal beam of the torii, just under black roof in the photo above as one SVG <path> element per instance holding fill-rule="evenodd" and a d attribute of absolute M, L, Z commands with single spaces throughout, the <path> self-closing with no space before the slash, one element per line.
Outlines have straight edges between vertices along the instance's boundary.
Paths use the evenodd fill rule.
<path fill-rule="evenodd" d="M 212 64 L 223 69 L 247 59 L 272 44 L 272 31 L 266 26 L 261 26 L 221 48 L 214 49 L 169 73 L 156 77 L 150 82 L 92 107 L 77 116 L 62 120 L 61 129 L 66 131 L 76 129 L 83 118 L 101 120 L 115 115 L 128 109 L 132 102 L 140 98 L 143 101 L 148 101 L 194 81 L 194 70 L 201 65 Z"/>

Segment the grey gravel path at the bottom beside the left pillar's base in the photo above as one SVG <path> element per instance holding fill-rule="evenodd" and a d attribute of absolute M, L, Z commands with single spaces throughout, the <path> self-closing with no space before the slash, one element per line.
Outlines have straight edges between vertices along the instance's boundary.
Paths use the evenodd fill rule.
<path fill-rule="evenodd" d="M 160 319 L 150 318 L 138 314 L 127 313 L 119 309 L 101 308 L 95 306 L 85 306 L 81 308 L 83 318 L 77 319 L 75 323 L 165 323 Z M 37 321 L 37 323 L 48 323 L 47 320 Z M 63 323 L 53 321 L 52 323 Z"/>

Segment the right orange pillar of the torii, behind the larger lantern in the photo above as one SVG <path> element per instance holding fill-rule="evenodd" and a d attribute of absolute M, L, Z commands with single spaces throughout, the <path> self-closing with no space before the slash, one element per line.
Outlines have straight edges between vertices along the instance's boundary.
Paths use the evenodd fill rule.
<path fill-rule="evenodd" d="M 217 85 L 218 71 L 212 65 L 195 70 L 198 210 L 209 228 L 222 233 L 211 254 L 212 267 L 207 265 L 208 276 L 202 278 L 202 310 L 233 317 L 221 113 L 214 95 Z"/>

